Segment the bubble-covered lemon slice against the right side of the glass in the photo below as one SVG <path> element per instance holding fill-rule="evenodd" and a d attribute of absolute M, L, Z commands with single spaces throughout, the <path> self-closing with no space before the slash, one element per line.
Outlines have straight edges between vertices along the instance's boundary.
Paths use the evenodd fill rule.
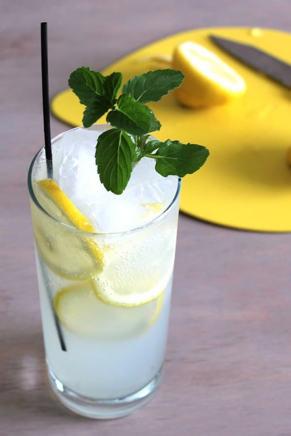
<path fill-rule="evenodd" d="M 117 236 L 113 243 L 103 271 L 92 277 L 97 297 L 112 306 L 131 308 L 162 295 L 172 276 L 175 230 L 144 228 Z"/>

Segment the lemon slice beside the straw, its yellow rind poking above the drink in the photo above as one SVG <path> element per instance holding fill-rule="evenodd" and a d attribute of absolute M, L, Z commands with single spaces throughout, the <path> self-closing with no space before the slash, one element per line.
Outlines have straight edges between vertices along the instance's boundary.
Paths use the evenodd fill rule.
<path fill-rule="evenodd" d="M 35 244 L 42 261 L 61 277 L 82 280 L 99 273 L 104 266 L 104 255 L 92 234 L 92 224 L 51 179 L 35 183 L 35 195 L 50 216 L 32 208 Z M 70 226 L 70 227 L 69 227 Z"/>

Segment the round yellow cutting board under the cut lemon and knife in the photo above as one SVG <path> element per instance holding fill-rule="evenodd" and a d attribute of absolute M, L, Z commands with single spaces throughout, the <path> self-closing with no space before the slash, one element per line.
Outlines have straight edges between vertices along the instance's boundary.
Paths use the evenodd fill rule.
<path fill-rule="evenodd" d="M 206 164 L 184 177 L 180 210 L 196 218 L 238 229 L 291 231 L 291 91 L 236 61 L 216 47 L 214 34 L 252 44 L 291 63 L 291 33 L 254 28 L 191 30 L 141 48 L 103 70 L 121 71 L 124 82 L 134 75 L 164 68 L 151 56 L 172 55 L 174 47 L 194 41 L 232 66 L 247 84 L 237 101 L 208 109 L 187 109 L 174 94 L 150 104 L 162 123 L 160 140 L 198 143 L 210 149 Z M 92 52 L 92 64 L 98 53 Z M 81 65 L 78 65 L 81 66 Z M 77 67 L 77 66 L 76 66 Z M 81 125 L 82 111 L 71 90 L 56 95 L 53 114 L 69 125 Z M 104 123 L 105 117 L 98 122 Z"/>

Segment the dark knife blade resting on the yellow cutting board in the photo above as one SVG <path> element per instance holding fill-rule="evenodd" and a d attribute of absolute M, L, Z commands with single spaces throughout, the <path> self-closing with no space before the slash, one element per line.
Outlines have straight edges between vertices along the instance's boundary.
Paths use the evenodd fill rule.
<path fill-rule="evenodd" d="M 289 63 L 281 61 L 257 47 L 215 35 L 209 36 L 218 47 L 223 48 L 239 61 L 291 88 L 291 65 Z"/>

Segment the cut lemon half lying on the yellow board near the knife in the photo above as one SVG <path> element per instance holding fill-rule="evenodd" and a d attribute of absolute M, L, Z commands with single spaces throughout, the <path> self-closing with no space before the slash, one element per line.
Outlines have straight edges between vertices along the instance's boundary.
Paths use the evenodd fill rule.
<path fill-rule="evenodd" d="M 187 107 L 223 104 L 245 92 L 245 82 L 236 71 L 194 42 L 184 42 L 175 48 L 172 66 L 185 75 L 184 82 L 174 92 Z"/>

